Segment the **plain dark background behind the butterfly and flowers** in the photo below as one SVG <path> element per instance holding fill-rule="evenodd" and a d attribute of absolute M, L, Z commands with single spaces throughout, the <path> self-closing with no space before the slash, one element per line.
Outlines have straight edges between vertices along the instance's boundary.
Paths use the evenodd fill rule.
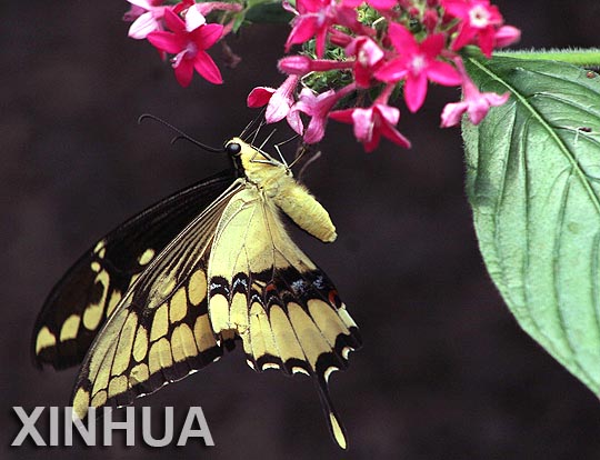
<path fill-rule="evenodd" d="M 600 403 L 526 336 L 481 262 L 463 192 L 457 129 L 439 112 L 456 90 L 431 90 L 403 111 L 413 142 L 366 154 L 331 122 L 306 181 L 338 227 L 334 244 L 299 236 L 337 282 L 364 348 L 331 380 L 351 450 L 330 441 L 312 383 L 257 374 L 226 357 L 137 406 L 204 410 L 217 447 L 162 450 L 9 448 L 11 407 L 66 406 L 77 370 L 39 372 L 29 358 L 34 318 L 53 283 L 106 231 L 147 204 L 222 169 L 224 160 L 171 132 L 138 126 L 160 116 L 210 144 L 256 116 L 246 96 L 278 86 L 288 28 L 262 26 L 228 42 L 243 61 L 226 84 L 194 77 L 181 89 L 147 42 L 127 38 L 124 1 L 2 2 L 2 317 L 0 458 L 598 459 Z M 499 1 L 521 47 L 598 43 L 597 0 Z M 157 433 L 158 434 L 158 433 Z M 141 441 L 138 439 L 141 443 Z"/>

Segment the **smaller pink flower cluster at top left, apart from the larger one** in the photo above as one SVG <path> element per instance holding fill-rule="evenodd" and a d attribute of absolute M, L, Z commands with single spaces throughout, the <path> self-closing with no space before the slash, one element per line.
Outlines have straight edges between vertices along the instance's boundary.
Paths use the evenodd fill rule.
<path fill-rule="evenodd" d="M 182 0 L 164 6 L 163 0 L 127 1 L 131 8 L 123 19 L 132 22 L 129 37 L 148 40 L 162 58 L 166 53 L 173 54 L 171 64 L 179 84 L 188 87 L 194 70 L 211 83 L 223 82 L 207 50 L 231 31 L 232 21 L 226 26 L 208 23 L 206 16 L 213 10 L 238 12 L 242 9 L 240 4 Z"/>

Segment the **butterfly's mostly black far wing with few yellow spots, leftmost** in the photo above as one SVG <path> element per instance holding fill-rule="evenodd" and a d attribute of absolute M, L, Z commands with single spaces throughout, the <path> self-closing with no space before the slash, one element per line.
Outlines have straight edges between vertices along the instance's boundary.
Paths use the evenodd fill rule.
<path fill-rule="evenodd" d="M 48 296 L 32 336 L 34 362 L 80 363 L 132 281 L 234 180 L 230 170 L 181 190 L 102 238 Z"/>

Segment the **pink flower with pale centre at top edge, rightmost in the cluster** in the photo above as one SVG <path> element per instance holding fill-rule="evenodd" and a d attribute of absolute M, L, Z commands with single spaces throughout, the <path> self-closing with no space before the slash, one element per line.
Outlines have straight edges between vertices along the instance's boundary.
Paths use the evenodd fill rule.
<path fill-rule="evenodd" d="M 503 22 L 498 8 L 489 0 L 442 0 L 442 6 L 448 14 L 461 19 L 452 50 L 458 51 L 477 39 L 483 54 L 491 57 L 496 30 Z"/>

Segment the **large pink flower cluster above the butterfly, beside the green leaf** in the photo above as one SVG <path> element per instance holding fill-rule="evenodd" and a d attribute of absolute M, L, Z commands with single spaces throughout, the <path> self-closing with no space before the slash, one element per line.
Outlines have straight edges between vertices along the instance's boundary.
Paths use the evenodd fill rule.
<path fill-rule="evenodd" d="M 288 78 L 277 89 L 254 88 L 248 106 L 267 106 L 267 122 L 286 119 L 307 143 L 323 138 L 331 118 L 352 124 L 366 151 L 374 150 L 381 137 L 409 147 L 396 129 L 400 110 L 390 106 L 398 86 L 411 112 L 422 106 L 429 81 L 462 86 L 463 100 L 446 106 L 442 127 L 459 123 L 464 112 L 479 123 L 490 107 L 508 100 L 508 93 L 480 92 L 458 53 L 474 44 L 489 58 L 494 48 L 520 38 L 518 29 L 503 26 L 489 0 L 297 0 L 296 9 L 284 0 L 283 6 L 294 14 L 286 50 L 313 40 L 314 52 L 281 59 L 279 69 Z M 359 11 L 374 20 L 359 21 Z M 328 53 L 337 59 L 323 59 Z M 303 84 L 314 72 L 331 71 L 350 81 L 320 94 Z M 366 102 L 373 92 L 374 100 Z M 350 94 L 357 94 L 360 103 L 336 110 Z M 301 113 L 310 119 L 306 127 Z"/>

